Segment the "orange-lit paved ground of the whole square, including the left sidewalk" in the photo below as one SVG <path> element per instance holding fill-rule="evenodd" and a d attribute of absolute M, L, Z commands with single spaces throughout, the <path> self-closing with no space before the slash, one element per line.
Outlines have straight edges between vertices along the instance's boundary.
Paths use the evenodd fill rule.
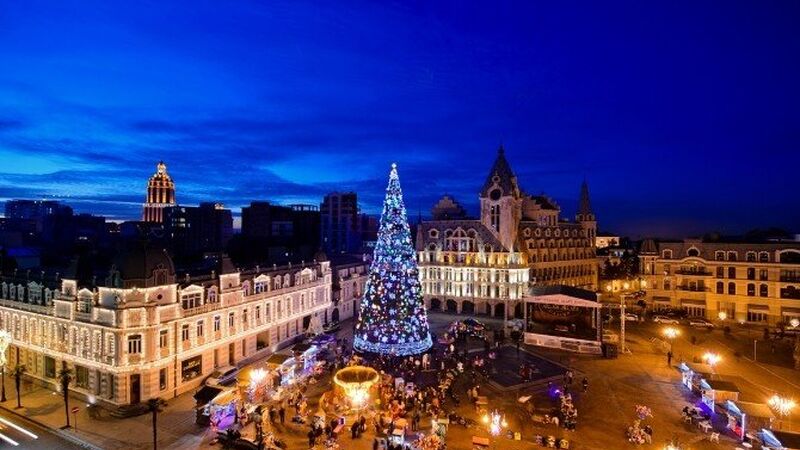
<path fill-rule="evenodd" d="M 433 314 L 431 323 L 434 332 L 441 336 L 453 316 Z M 498 323 L 487 320 L 490 326 Z M 617 326 L 618 322 L 611 326 Z M 543 350 L 522 346 L 519 356 L 512 346 L 497 349 L 497 360 L 493 378 L 490 383 L 480 384 L 480 393 L 488 397 L 488 408 L 502 412 L 508 422 L 507 430 L 521 432 L 521 441 L 507 438 L 505 435 L 492 437 L 492 448 L 495 449 L 534 449 L 541 448 L 531 442 L 534 435 L 552 435 L 566 438 L 570 448 L 574 449 L 618 449 L 618 448 L 663 448 L 670 439 L 678 439 L 684 448 L 717 449 L 736 447 L 733 436 L 724 430 L 723 417 L 719 414 L 715 426 L 721 433 L 719 444 L 710 443 L 708 434 L 701 432 L 693 425 L 681 420 L 681 409 L 697 402 L 694 394 L 690 394 L 680 383 L 680 373 L 676 365 L 683 358 L 691 360 L 708 349 L 721 352 L 722 362 L 717 366 L 720 379 L 735 382 L 742 390 L 742 396 L 748 401 L 763 402 L 772 393 L 771 386 L 780 383 L 785 386 L 782 393 L 800 398 L 800 386 L 797 372 L 775 364 L 753 363 L 748 355 L 742 353 L 748 339 L 747 330 L 737 330 L 732 336 L 725 336 L 721 330 L 695 331 L 680 326 L 682 334 L 673 343 L 674 358 L 672 366 L 667 365 L 665 355 L 651 340 L 659 336 L 661 327 L 652 323 L 633 323 L 627 327 L 630 354 L 616 359 L 603 359 L 597 356 L 584 356 L 554 350 Z M 751 332 L 751 335 L 754 332 Z M 339 337 L 352 335 L 351 323 L 346 322 L 339 332 Z M 692 344 L 694 336 L 694 344 Z M 481 343 L 470 340 L 469 355 L 477 356 L 485 352 Z M 778 351 L 778 350 L 776 350 Z M 775 358 L 769 353 L 770 358 Z M 738 360 L 737 360 L 738 356 Z M 752 355 L 749 355 L 750 357 Z M 765 355 L 766 356 L 766 355 Z M 516 368 L 526 362 L 539 371 L 532 382 L 522 383 Z M 563 372 L 569 368 L 574 372 L 571 386 L 575 407 L 578 411 L 577 427 L 568 431 L 563 427 L 545 424 L 542 418 L 546 414 L 557 411 L 558 399 L 552 395 L 554 389 L 563 389 Z M 435 374 L 435 371 L 434 371 Z M 431 375 L 433 377 L 433 375 Z M 580 381 L 586 377 L 588 390 L 584 393 Z M 484 380 L 485 381 L 485 380 Z M 6 380 L 9 397 L 5 407 L 13 407 L 16 403 L 13 383 Z M 485 425 L 480 421 L 475 407 L 467 400 L 466 390 L 472 381 L 468 376 L 458 377 L 454 384 L 454 392 L 460 398 L 456 405 L 447 400 L 444 409 L 459 416 L 472 419 L 476 425 L 463 426 L 451 424 L 447 432 L 448 449 L 471 449 L 473 436 L 489 437 Z M 548 386 L 550 391 L 548 391 Z M 570 388 L 570 387 L 568 387 Z M 320 395 L 331 389 L 331 377 L 327 375 L 320 382 L 309 386 L 307 396 L 309 411 L 318 408 Z M 534 411 L 526 411 L 517 399 L 532 396 Z M 159 417 L 159 448 L 161 449 L 214 449 L 211 432 L 194 423 L 193 399 L 191 394 L 167 399 L 169 406 Z M 59 396 L 47 389 L 25 384 L 22 403 L 24 408 L 16 412 L 28 416 L 44 426 L 59 428 L 64 425 L 64 408 Z M 103 414 L 99 418 L 89 418 L 85 405 L 76 399 L 75 405 L 81 406 L 76 415 L 77 430 L 67 431 L 97 448 L 115 449 L 147 449 L 152 448 L 150 416 L 144 415 L 128 419 L 116 419 Z M 636 446 L 628 443 L 625 430 L 635 419 L 636 405 L 646 405 L 653 411 L 653 417 L 647 423 L 653 428 L 653 442 L 650 445 Z M 289 416 L 287 414 L 287 416 Z M 789 417 L 780 424 L 783 428 L 797 428 L 797 424 Z M 352 418 L 348 417 L 348 420 Z M 308 448 L 307 425 L 293 424 L 289 420 L 285 424 L 276 424 L 274 432 L 287 444 L 289 449 Z M 423 418 L 421 432 L 428 432 L 430 419 Z M 371 449 L 374 430 L 367 427 L 367 432 L 358 439 L 351 439 L 349 432 L 339 437 L 343 449 Z M 254 433 L 252 425 L 244 429 L 245 435 Z M 409 434 L 407 440 L 413 440 Z M 318 445 L 317 448 L 322 448 Z"/>

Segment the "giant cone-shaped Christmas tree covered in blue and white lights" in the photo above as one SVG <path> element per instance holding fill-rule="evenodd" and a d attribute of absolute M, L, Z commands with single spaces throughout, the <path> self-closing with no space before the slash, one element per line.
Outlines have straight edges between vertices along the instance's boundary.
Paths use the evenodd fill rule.
<path fill-rule="evenodd" d="M 403 191 L 392 164 L 353 346 L 363 352 L 405 356 L 431 345 Z"/>

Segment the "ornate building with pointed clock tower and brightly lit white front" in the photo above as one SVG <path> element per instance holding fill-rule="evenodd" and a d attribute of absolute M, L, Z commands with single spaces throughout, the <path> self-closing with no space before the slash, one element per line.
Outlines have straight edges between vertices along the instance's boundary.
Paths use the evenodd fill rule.
<path fill-rule="evenodd" d="M 479 193 L 479 219 L 432 220 L 417 228 L 425 304 L 455 313 L 522 317 L 529 284 L 597 289 L 597 222 L 586 183 L 575 222 L 544 195 L 519 187 L 502 147 Z M 434 210 L 454 210 L 452 198 Z"/>

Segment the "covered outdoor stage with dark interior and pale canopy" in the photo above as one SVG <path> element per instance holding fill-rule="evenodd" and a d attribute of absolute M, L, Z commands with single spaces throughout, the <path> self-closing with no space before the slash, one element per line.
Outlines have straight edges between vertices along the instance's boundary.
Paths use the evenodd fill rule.
<path fill-rule="evenodd" d="M 525 304 L 525 343 L 578 353 L 602 353 L 597 294 L 571 286 L 536 286 Z"/>

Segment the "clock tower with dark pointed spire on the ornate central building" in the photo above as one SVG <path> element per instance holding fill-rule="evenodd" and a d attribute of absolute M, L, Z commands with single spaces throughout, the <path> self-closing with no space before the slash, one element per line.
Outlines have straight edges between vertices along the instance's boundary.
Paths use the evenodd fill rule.
<path fill-rule="evenodd" d="M 501 145 L 489 176 L 479 194 L 481 223 L 492 231 L 507 250 L 513 250 L 522 219 L 523 195 Z"/>

